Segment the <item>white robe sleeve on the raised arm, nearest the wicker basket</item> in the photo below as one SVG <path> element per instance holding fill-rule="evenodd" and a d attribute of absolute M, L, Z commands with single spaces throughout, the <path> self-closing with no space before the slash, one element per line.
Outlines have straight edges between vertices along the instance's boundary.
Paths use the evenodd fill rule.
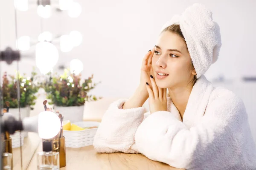
<path fill-rule="evenodd" d="M 93 142 L 96 152 L 138 153 L 134 136 L 146 110 L 144 107 L 122 109 L 125 101 L 113 102 L 103 115 Z"/>

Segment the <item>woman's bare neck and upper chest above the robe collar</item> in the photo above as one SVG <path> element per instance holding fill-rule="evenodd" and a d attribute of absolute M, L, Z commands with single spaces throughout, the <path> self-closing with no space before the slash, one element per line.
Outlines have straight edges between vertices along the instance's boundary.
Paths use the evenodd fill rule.
<path fill-rule="evenodd" d="M 169 95 L 172 99 L 173 104 L 177 108 L 177 110 L 180 112 L 180 117 L 183 119 L 183 115 L 186 110 L 186 105 L 189 100 L 190 93 L 192 91 L 193 87 L 180 87 L 175 89 L 168 89 Z"/>

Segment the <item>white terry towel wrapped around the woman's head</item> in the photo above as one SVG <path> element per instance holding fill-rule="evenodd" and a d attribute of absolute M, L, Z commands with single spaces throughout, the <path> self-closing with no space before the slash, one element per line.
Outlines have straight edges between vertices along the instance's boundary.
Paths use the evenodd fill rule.
<path fill-rule="evenodd" d="M 197 78 L 217 61 L 221 48 L 220 28 L 212 20 L 212 12 L 201 4 L 194 4 L 181 14 L 175 15 L 163 25 L 162 30 L 179 24 L 192 59 Z"/>

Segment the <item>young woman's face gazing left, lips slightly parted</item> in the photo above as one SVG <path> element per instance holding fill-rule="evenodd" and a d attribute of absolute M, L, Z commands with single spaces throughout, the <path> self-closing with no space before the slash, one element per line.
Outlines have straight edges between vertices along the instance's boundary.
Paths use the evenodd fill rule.
<path fill-rule="evenodd" d="M 194 76 L 186 43 L 169 31 L 160 34 L 157 40 L 152 67 L 159 88 L 185 87 Z"/>

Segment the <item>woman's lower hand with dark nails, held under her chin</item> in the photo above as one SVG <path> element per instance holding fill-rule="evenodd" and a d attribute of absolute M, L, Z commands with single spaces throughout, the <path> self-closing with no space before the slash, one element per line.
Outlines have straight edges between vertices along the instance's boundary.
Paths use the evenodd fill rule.
<path fill-rule="evenodd" d="M 149 86 L 148 82 L 146 82 L 150 113 L 167 111 L 166 88 L 157 87 L 154 77 L 152 75 L 150 77 L 152 88 Z"/>

